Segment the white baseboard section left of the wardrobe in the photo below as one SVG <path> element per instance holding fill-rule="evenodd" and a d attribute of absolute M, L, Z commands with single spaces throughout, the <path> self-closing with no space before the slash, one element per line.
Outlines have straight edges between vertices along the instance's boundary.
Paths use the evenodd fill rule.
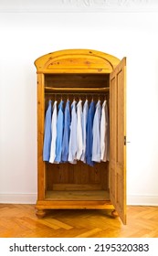
<path fill-rule="evenodd" d="M 0 194 L 1 204 L 36 204 L 37 194 Z"/>

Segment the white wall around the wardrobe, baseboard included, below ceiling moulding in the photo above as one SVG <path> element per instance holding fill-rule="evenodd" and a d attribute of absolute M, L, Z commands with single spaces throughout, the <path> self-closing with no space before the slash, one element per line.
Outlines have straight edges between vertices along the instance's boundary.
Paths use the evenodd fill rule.
<path fill-rule="evenodd" d="M 37 197 L 34 61 L 65 48 L 127 57 L 127 196 L 158 205 L 156 13 L 10 13 L 0 16 L 0 201 Z"/>

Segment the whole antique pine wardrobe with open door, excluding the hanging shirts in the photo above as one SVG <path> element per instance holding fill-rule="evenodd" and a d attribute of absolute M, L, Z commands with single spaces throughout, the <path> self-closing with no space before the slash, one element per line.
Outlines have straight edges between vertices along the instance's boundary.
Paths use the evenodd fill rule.
<path fill-rule="evenodd" d="M 47 209 L 111 208 L 126 223 L 126 59 L 89 49 L 48 53 L 37 67 L 37 217 Z M 110 161 L 93 167 L 78 161 L 43 162 L 47 101 L 79 97 L 107 99 L 110 111 Z M 102 98 L 101 98 L 102 97 Z M 91 100 L 90 100 L 91 101 Z"/>

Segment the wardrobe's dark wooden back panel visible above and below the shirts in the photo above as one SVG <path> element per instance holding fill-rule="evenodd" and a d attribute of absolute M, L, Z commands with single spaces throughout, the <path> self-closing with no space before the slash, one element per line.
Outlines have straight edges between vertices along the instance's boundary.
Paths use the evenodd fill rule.
<path fill-rule="evenodd" d="M 104 101 L 109 99 L 109 91 L 106 94 L 92 94 L 89 91 L 80 91 L 73 94 L 73 88 L 105 88 L 109 87 L 109 74 L 46 74 L 45 75 L 45 111 L 48 100 L 58 102 L 62 100 L 70 103 L 75 99 L 81 99 L 84 103 L 89 101 Z M 48 88 L 55 88 L 52 92 Z M 63 91 L 58 89 L 63 88 Z M 69 91 L 64 92 L 64 88 Z M 108 190 L 109 189 L 109 163 L 99 163 L 91 167 L 78 161 L 77 165 L 46 164 L 46 189 L 47 190 Z"/>

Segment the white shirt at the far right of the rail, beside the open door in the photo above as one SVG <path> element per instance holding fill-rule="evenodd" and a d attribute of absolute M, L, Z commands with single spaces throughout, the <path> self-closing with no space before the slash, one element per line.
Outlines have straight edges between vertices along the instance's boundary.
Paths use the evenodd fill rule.
<path fill-rule="evenodd" d="M 109 116 L 107 101 L 102 103 L 100 119 L 100 160 L 110 160 Z"/>

